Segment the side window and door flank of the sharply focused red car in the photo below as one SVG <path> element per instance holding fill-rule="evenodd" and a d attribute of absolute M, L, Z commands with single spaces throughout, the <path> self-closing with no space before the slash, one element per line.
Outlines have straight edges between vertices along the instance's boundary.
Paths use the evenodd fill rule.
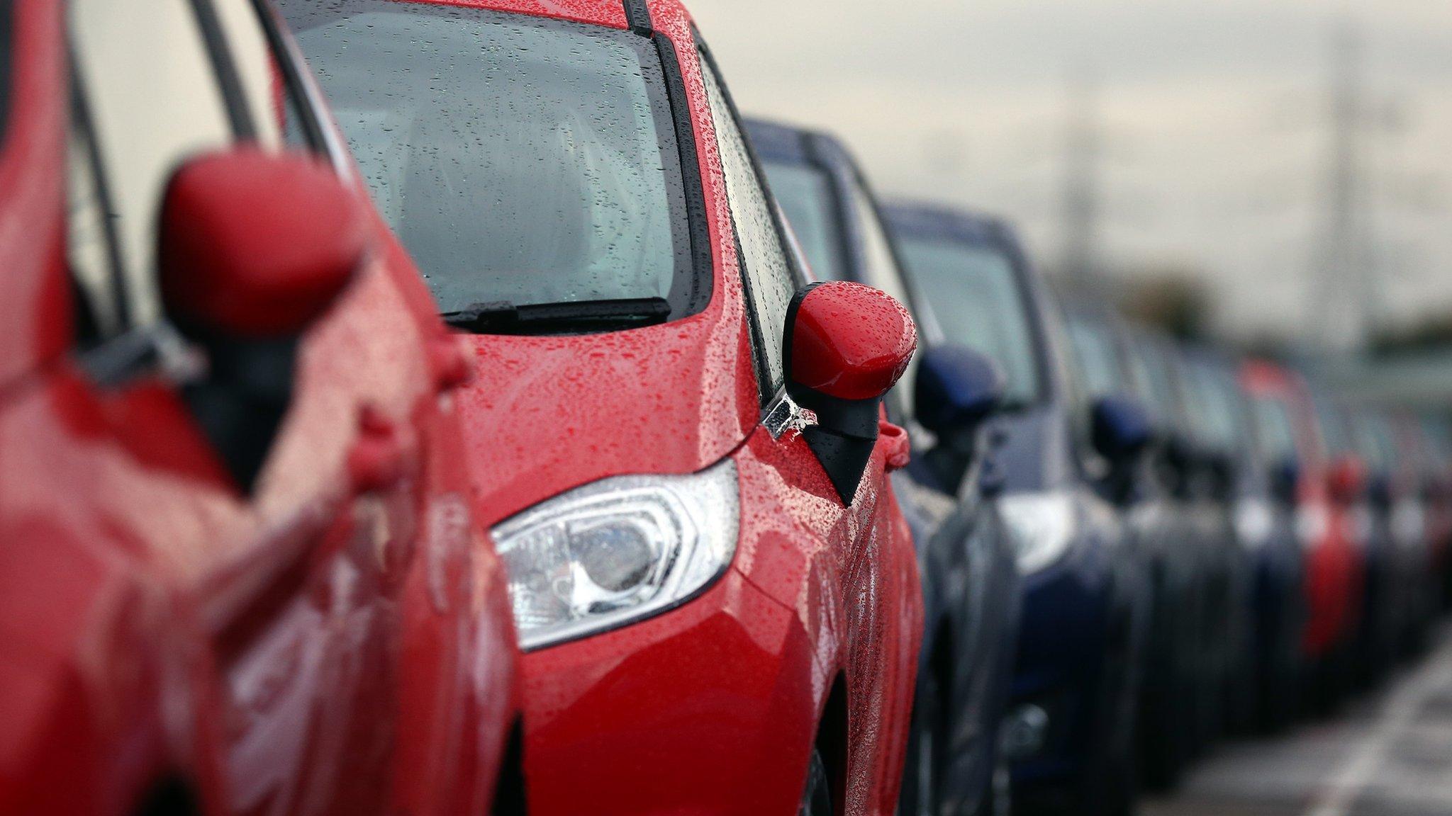
<path fill-rule="evenodd" d="M 849 812 L 889 812 L 900 783 L 922 624 L 912 539 L 886 478 L 887 449 L 905 431 L 883 420 L 887 433 L 880 434 L 862 482 L 844 507 L 802 434 L 774 427 L 783 405 L 794 411 L 784 395 L 783 335 L 804 274 L 788 253 L 780 212 L 707 52 L 701 54 L 701 70 L 746 283 L 765 412 L 748 444 L 756 463 L 775 472 L 772 499 L 793 518 L 791 539 L 813 560 L 803 585 L 780 600 L 796 608 L 804 629 L 817 637 L 823 661 L 836 664 L 847 677 Z M 755 479 L 745 462 L 742 468 L 745 505 L 752 501 L 746 485 Z"/>

